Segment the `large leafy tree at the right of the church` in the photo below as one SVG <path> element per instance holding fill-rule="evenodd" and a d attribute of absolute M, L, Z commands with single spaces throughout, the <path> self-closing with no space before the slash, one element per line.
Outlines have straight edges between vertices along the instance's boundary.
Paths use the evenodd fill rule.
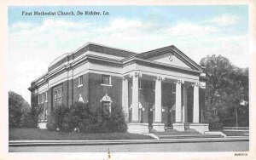
<path fill-rule="evenodd" d="M 210 129 L 236 125 L 240 100 L 248 100 L 248 69 L 233 66 L 230 60 L 215 54 L 203 58 L 200 64 L 209 77 L 205 119 Z"/>

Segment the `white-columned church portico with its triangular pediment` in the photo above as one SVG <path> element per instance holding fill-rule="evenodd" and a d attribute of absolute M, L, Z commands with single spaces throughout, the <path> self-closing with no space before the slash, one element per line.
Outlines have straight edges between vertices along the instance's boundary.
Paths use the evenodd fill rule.
<path fill-rule="evenodd" d="M 201 120 L 204 101 L 200 100 L 204 97 L 200 99 L 200 94 L 204 96 L 206 89 L 204 70 L 172 51 L 157 55 L 148 52 L 137 55 L 136 60 L 127 60 L 122 106 L 128 132 L 148 133 L 148 126 L 157 132 L 164 132 L 166 127 L 177 131 L 195 129 L 202 134 L 208 131 L 208 124 Z"/>

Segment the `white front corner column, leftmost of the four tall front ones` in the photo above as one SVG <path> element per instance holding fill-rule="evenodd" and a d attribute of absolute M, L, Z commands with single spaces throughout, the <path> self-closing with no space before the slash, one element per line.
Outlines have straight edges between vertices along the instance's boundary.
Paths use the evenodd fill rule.
<path fill-rule="evenodd" d="M 132 77 L 132 116 L 131 122 L 138 123 L 138 77 L 139 73 L 135 72 Z"/>

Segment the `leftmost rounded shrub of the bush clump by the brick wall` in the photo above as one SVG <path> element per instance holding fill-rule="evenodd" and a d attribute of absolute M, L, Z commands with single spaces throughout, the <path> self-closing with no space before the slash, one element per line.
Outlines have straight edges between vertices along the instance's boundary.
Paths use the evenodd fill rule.
<path fill-rule="evenodd" d="M 62 123 L 65 114 L 69 112 L 69 108 L 67 106 L 55 106 L 53 111 L 51 112 L 48 121 L 47 121 L 47 129 L 55 130 L 57 128 L 62 129 Z"/>

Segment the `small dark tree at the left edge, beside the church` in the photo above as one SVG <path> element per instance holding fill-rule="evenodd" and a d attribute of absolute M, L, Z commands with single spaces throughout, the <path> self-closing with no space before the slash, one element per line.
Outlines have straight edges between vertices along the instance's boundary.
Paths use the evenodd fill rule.
<path fill-rule="evenodd" d="M 30 106 L 20 94 L 9 91 L 9 127 L 28 127 L 31 118 L 28 116 Z"/>

